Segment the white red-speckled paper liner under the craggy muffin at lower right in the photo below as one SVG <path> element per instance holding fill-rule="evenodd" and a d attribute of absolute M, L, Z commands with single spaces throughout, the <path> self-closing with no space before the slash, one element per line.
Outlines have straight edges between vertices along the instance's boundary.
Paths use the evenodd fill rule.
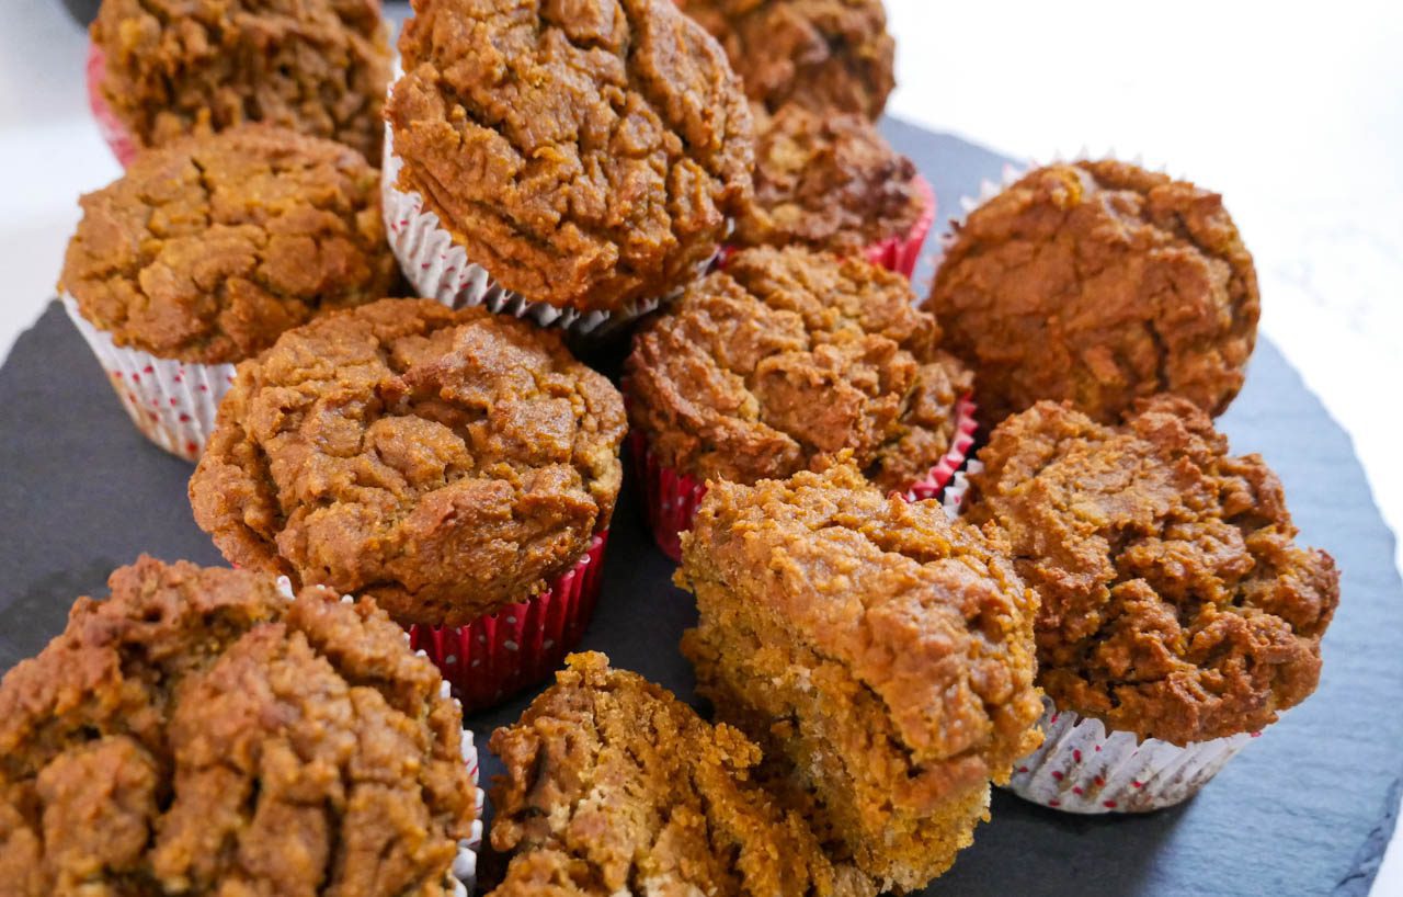
<path fill-rule="evenodd" d="M 1023 758 L 1009 790 L 1065 813 L 1148 813 L 1183 803 L 1261 733 L 1184 747 L 1110 731 L 1100 720 L 1058 710 L 1047 698 L 1042 747 Z"/>

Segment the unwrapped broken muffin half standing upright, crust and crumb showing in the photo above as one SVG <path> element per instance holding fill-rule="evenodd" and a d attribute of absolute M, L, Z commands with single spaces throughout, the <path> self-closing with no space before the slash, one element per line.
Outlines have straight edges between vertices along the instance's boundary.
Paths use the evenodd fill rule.
<path fill-rule="evenodd" d="M 682 543 L 682 650 L 717 717 L 881 890 L 948 869 L 1040 740 L 1037 598 L 1007 546 L 850 463 L 714 483 Z"/>

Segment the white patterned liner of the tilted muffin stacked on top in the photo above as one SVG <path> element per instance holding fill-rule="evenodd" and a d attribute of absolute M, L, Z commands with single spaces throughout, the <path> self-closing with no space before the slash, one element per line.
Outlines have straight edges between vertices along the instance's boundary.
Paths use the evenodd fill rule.
<path fill-rule="evenodd" d="M 609 331 L 657 309 L 662 299 L 634 302 L 616 312 L 578 312 L 557 309 L 546 302 L 530 302 L 505 289 L 481 265 L 469 261 L 467 250 L 439 225 L 439 216 L 424 208 L 418 191 L 404 192 L 396 182 L 403 161 L 394 154 L 394 133 L 384 129 L 384 164 L 380 167 L 380 212 L 390 248 L 414 291 L 452 309 L 487 306 L 497 314 L 529 317 L 542 327 L 560 327 L 581 335 L 602 337 Z M 702 265 L 699 275 L 711 267 Z"/>

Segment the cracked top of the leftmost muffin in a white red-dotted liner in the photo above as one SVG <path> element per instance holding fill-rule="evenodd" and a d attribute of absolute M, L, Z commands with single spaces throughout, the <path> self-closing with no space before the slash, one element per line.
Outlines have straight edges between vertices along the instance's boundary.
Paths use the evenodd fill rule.
<path fill-rule="evenodd" d="M 398 277 L 375 168 L 290 131 L 246 125 L 143 153 L 81 205 L 60 289 L 118 345 L 160 358 L 241 361 Z"/>

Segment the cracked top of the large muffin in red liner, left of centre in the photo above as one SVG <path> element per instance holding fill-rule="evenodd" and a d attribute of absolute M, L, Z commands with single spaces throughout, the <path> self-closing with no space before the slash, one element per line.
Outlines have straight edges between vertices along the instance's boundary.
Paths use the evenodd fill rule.
<path fill-rule="evenodd" d="M 189 481 L 230 562 L 460 626 L 607 528 L 623 399 L 556 333 L 384 299 L 239 366 Z"/>

